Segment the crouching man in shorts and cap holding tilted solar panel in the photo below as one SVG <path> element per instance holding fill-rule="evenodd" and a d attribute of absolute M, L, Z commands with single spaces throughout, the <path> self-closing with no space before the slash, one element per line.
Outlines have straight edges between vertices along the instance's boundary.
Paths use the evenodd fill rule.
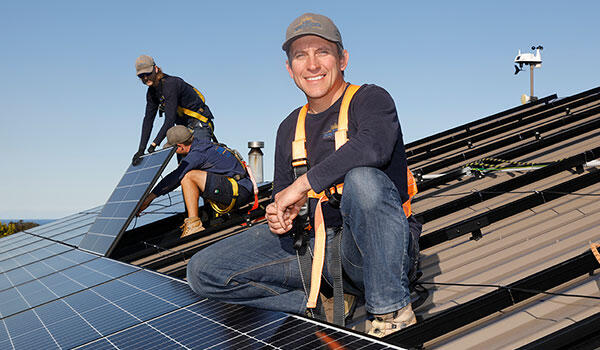
<path fill-rule="evenodd" d="M 203 229 L 198 217 L 198 200 L 202 197 L 216 210 L 227 212 L 243 206 L 253 198 L 253 181 L 245 163 L 234 151 L 207 139 L 194 138 L 183 125 L 167 131 L 167 147 L 177 147 L 178 155 L 185 156 L 177 169 L 165 176 L 144 199 L 138 215 L 152 201 L 181 184 L 188 218 L 183 224 L 185 237 Z"/>

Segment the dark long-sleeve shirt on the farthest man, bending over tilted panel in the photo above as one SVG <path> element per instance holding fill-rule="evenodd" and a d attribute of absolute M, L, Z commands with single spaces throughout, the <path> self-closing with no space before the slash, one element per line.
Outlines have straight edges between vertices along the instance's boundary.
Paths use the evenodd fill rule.
<path fill-rule="evenodd" d="M 179 77 L 165 74 L 159 81 L 158 86 L 150 86 L 146 92 L 146 114 L 144 115 L 142 137 L 138 148 L 140 151 L 143 151 L 148 144 L 156 112 L 161 105 L 164 108 L 165 121 L 154 138 L 156 145 L 160 145 L 165 139 L 169 128 L 175 124 L 187 125 L 188 118 L 192 118 L 187 115 L 179 116 L 177 107 L 187 108 L 213 119 L 210 109 L 198 96 L 193 86 Z"/>

